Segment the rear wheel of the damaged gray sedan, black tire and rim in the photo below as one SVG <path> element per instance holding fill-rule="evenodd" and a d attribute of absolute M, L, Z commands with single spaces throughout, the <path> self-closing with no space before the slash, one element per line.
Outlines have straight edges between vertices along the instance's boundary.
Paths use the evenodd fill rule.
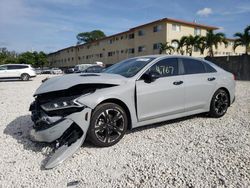
<path fill-rule="evenodd" d="M 215 118 L 224 116 L 229 104 L 228 93 L 223 89 L 217 90 L 211 100 L 209 115 Z"/>

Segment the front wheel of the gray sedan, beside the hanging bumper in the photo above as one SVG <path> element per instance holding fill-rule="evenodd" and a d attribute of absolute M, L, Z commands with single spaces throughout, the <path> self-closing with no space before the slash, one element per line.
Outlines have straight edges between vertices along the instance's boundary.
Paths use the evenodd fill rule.
<path fill-rule="evenodd" d="M 122 139 L 127 126 L 127 114 L 121 106 L 103 103 L 97 106 L 92 114 L 88 137 L 96 146 L 112 146 Z"/>

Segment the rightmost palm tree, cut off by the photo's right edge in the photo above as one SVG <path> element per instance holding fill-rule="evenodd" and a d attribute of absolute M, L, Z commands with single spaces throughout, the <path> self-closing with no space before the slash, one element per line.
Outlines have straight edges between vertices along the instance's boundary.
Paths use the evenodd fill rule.
<path fill-rule="evenodd" d="M 247 26 L 244 29 L 243 33 L 235 33 L 234 37 L 238 37 L 235 41 L 234 41 L 234 50 L 238 47 L 238 46 L 245 46 L 246 47 L 246 52 L 245 54 L 247 54 L 247 50 L 250 47 L 250 25 Z"/>

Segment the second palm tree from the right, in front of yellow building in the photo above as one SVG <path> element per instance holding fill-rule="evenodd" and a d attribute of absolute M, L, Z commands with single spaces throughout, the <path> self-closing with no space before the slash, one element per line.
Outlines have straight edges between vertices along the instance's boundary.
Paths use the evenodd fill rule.
<path fill-rule="evenodd" d="M 217 49 L 218 44 L 221 44 L 221 43 L 224 43 L 225 45 L 227 44 L 227 40 L 225 38 L 224 33 L 215 34 L 212 30 L 207 32 L 205 44 L 206 44 L 206 49 L 208 49 L 209 56 L 211 57 L 214 56 L 213 47 Z"/>

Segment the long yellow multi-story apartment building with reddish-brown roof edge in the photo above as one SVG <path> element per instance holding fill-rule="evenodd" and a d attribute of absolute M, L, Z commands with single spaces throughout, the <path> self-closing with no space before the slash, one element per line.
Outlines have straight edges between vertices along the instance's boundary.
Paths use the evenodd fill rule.
<path fill-rule="evenodd" d="M 159 54 L 160 43 L 169 42 L 177 47 L 177 44 L 171 42 L 173 39 L 188 35 L 205 36 L 208 30 L 216 29 L 218 28 L 195 22 L 163 18 L 91 43 L 61 49 L 49 54 L 48 60 L 54 67 L 73 67 L 77 64 L 96 61 L 114 64 L 130 57 Z M 239 55 L 244 53 L 244 48 L 238 47 L 234 52 L 233 39 L 229 39 L 227 46 L 221 44 L 214 52 L 216 56 Z M 192 55 L 204 57 L 207 55 L 207 50 L 204 54 L 200 54 L 197 49 L 194 49 Z"/>

